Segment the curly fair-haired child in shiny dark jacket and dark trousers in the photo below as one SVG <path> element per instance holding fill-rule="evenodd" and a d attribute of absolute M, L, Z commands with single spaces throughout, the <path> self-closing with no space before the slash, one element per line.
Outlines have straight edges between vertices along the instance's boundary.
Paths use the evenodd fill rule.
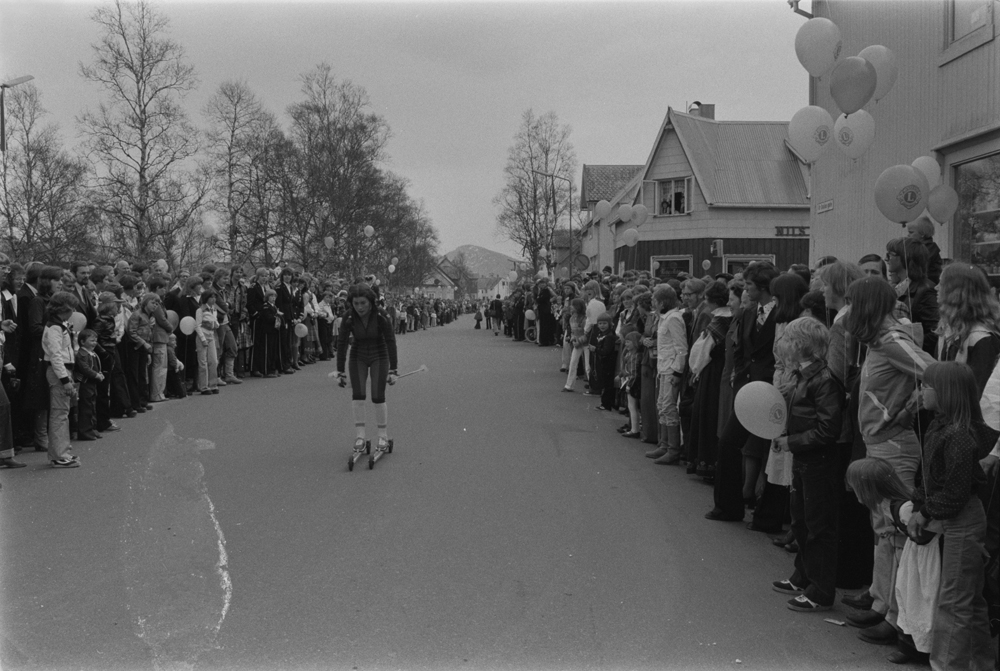
<path fill-rule="evenodd" d="M 778 356 L 792 371 L 782 388 L 788 404 L 785 435 L 774 450 L 791 452 L 792 533 L 799 551 L 795 573 L 774 583 L 794 595 L 788 608 L 830 610 L 837 596 L 837 537 L 840 476 L 838 439 L 843 425 L 843 387 L 826 365 L 827 329 L 813 317 L 799 317 L 784 329 Z"/>

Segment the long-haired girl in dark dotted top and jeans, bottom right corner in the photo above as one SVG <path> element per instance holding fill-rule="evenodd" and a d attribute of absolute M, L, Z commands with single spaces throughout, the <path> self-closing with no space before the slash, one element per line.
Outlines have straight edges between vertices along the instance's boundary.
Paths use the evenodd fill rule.
<path fill-rule="evenodd" d="M 990 671 L 996 650 L 983 598 L 986 513 L 977 490 L 986 482 L 979 460 L 1000 433 L 983 423 L 976 378 L 965 364 L 927 366 L 920 400 L 935 418 L 924 438 L 907 531 L 916 539 L 931 520 L 943 527 L 931 667 Z"/>

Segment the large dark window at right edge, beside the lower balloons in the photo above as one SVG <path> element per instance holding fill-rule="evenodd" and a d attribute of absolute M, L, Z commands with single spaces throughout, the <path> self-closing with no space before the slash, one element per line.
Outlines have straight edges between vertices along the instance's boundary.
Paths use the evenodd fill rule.
<path fill-rule="evenodd" d="M 955 258 L 1000 277 L 1000 153 L 955 166 Z"/>

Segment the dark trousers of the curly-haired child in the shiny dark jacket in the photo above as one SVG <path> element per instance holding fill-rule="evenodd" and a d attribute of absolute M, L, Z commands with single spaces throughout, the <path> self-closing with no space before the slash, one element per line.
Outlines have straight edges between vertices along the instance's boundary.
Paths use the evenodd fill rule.
<path fill-rule="evenodd" d="M 840 475 L 837 448 L 796 457 L 792 465 L 792 534 L 799 546 L 791 581 L 806 588 L 806 598 L 829 606 L 837 596 L 837 544 L 840 533 Z"/>

